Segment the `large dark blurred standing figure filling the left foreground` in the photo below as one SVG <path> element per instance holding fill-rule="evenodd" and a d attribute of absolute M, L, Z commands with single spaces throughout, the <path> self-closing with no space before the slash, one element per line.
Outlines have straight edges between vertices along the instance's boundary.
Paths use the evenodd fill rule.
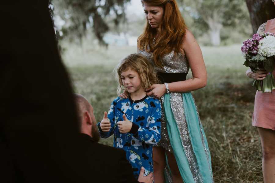
<path fill-rule="evenodd" d="M 0 2 L 0 20 L 0 182 L 91 182 L 48 1 Z"/>

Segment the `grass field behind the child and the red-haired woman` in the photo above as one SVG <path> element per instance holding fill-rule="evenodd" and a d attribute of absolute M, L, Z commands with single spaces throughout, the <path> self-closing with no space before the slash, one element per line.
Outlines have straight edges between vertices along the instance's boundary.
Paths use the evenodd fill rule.
<path fill-rule="evenodd" d="M 207 86 L 192 92 L 208 139 L 215 182 L 263 182 L 259 135 L 251 126 L 255 90 L 245 75 L 241 45 L 202 47 Z M 75 92 L 93 105 L 99 122 L 117 96 L 112 69 L 135 47 L 66 47 L 63 59 Z M 190 71 L 191 72 L 191 71 Z M 190 77 L 190 76 L 189 76 Z M 100 143 L 112 145 L 113 137 Z"/>

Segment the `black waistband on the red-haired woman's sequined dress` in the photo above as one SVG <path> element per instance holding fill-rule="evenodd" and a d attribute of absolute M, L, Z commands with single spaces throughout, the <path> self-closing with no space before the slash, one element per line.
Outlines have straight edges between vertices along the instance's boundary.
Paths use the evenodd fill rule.
<path fill-rule="evenodd" d="M 170 83 L 170 82 L 177 82 L 177 81 L 185 81 L 186 75 L 188 73 L 181 72 L 181 73 L 163 73 L 158 72 L 157 76 L 161 83 Z"/>

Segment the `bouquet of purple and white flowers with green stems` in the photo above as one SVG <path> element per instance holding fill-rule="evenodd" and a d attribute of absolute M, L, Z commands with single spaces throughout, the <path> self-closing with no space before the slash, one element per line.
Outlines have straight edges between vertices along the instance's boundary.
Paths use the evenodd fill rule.
<path fill-rule="evenodd" d="M 275 35 L 267 32 L 263 35 L 254 34 L 252 38 L 243 42 L 241 48 L 244 53 L 244 65 L 250 67 L 251 71 L 268 71 L 265 79 L 253 82 L 258 91 L 272 92 L 275 89 L 273 69 L 275 62 Z"/>

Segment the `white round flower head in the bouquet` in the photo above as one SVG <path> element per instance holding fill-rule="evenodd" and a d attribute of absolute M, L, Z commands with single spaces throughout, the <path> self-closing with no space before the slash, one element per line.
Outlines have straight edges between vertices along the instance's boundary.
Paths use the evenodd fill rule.
<path fill-rule="evenodd" d="M 275 55 L 275 37 L 268 35 L 259 41 L 259 54 L 266 57 L 272 57 Z"/>

